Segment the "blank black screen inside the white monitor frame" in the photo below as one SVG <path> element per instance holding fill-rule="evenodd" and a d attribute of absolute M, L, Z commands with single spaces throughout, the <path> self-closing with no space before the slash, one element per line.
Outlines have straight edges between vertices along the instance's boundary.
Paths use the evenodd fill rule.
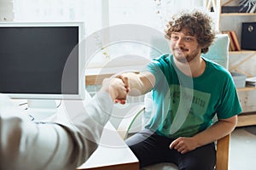
<path fill-rule="evenodd" d="M 0 27 L 0 93 L 79 94 L 79 26 Z M 68 88 L 62 73 L 73 48 Z"/>

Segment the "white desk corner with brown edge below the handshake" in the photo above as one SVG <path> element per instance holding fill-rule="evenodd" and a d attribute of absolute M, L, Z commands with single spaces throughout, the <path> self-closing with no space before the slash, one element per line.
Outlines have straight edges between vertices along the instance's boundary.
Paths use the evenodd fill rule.
<path fill-rule="evenodd" d="M 108 122 L 102 133 L 101 144 L 90 158 L 77 169 L 138 170 L 139 163 L 119 133 Z"/>

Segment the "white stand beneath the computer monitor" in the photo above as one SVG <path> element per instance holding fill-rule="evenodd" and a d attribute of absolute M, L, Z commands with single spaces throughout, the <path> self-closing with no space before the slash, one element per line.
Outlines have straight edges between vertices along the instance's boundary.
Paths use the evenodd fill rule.
<path fill-rule="evenodd" d="M 56 111 L 55 99 L 27 99 L 27 113 L 35 122 L 44 121 L 55 115 Z"/>

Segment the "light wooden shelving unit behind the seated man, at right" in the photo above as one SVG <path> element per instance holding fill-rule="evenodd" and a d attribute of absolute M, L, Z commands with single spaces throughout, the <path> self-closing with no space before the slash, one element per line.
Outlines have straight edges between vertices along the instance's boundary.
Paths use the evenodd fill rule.
<path fill-rule="evenodd" d="M 241 0 L 220 0 L 219 31 L 236 31 L 241 45 L 241 23 L 256 22 L 256 13 L 224 13 L 222 6 L 239 6 Z M 252 42 L 254 43 L 254 42 Z M 256 77 L 256 50 L 230 51 L 229 70 L 247 77 Z M 238 116 L 238 127 L 256 125 L 256 88 L 238 88 L 243 112 Z"/>

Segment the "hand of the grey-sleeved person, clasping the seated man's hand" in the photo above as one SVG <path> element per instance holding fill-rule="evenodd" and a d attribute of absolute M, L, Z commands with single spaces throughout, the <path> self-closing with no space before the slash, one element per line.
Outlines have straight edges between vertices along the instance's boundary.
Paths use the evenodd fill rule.
<path fill-rule="evenodd" d="M 102 82 L 102 91 L 107 92 L 115 103 L 125 104 L 129 89 L 119 78 L 105 78 Z"/>

